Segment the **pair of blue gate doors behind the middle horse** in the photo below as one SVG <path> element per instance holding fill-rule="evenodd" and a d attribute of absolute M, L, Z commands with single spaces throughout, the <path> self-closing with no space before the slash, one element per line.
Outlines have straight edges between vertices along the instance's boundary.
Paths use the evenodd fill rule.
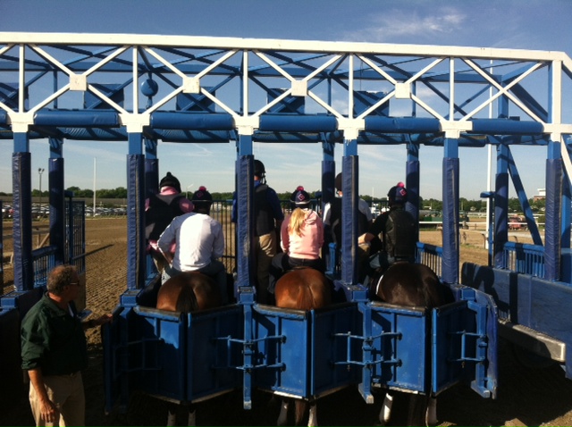
<path fill-rule="evenodd" d="M 257 306 L 253 317 L 257 343 L 254 385 L 294 398 L 318 398 L 355 382 L 346 364 L 348 342 L 357 330 L 357 307 L 342 304 L 320 310 Z"/>

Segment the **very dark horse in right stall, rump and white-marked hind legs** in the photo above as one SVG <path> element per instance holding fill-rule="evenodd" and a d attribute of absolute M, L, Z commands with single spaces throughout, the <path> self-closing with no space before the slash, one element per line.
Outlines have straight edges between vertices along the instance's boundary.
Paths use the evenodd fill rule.
<path fill-rule="evenodd" d="M 378 270 L 369 283 L 370 296 L 373 296 L 373 299 L 396 306 L 425 307 L 427 310 L 452 301 L 452 294 L 448 294 L 446 290 L 431 268 L 407 261 L 391 264 L 385 272 Z M 408 427 L 425 427 L 437 423 L 436 398 L 412 393 L 404 395 L 407 395 L 409 400 Z M 392 403 L 393 395 L 388 392 L 379 414 L 378 426 L 383 427 L 390 421 Z"/>

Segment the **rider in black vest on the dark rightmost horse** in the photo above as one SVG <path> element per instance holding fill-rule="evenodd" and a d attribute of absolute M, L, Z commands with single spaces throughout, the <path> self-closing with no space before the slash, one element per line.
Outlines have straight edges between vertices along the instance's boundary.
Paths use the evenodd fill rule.
<path fill-rule="evenodd" d="M 371 278 L 371 273 L 381 268 L 383 271 L 396 261 L 415 262 L 417 244 L 417 224 L 413 215 L 405 210 L 408 191 L 403 182 L 391 187 L 387 193 L 390 210 L 379 215 L 358 243 L 370 243 L 381 237 L 382 249 L 369 256 L 362 269 Z M 364 283 L 366 283 L 364 278 Z"/>

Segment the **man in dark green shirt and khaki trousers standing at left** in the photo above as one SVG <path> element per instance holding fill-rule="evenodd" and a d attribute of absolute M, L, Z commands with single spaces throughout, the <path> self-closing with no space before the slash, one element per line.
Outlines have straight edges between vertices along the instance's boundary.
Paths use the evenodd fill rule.
<path fill-rule="evenodd" d="M 73 303 L 80 277 L 71 265 L 58 265 L 46 294 L 21 323 L 21 367 L 29 374 L 29 404 L 37 426 L 85 425 L 82 369 L 88 366 L 84 329 L 111 322 L 111 314 L 82 323 Z"/>

